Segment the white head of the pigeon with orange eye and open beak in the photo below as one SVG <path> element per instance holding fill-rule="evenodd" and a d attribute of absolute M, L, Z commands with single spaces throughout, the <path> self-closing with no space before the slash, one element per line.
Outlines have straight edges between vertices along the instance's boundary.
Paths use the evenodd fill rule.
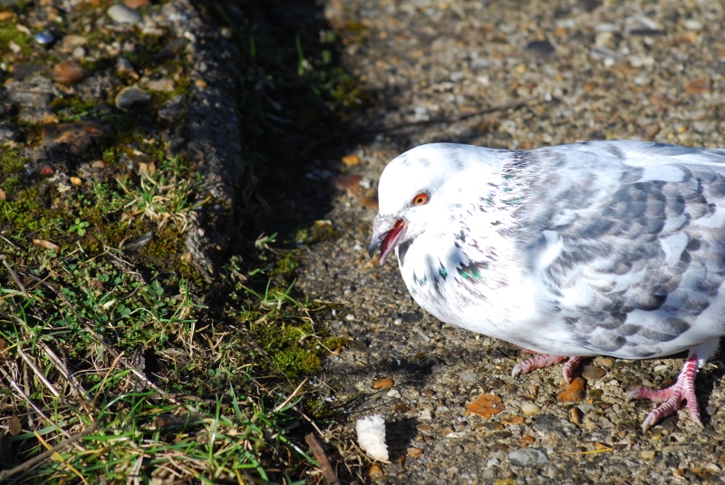
<path fill-rule="evenodd" d="M 380 247 L 380 264 L 402 243 L 445 220 L 453 181 L 463 162 L 449 144 L 422 145 L 392 160 L 378 184 L 378 215 L 372 224 L 370 257 Z M 455 190 L 458 192 L 458 190 Z"/>

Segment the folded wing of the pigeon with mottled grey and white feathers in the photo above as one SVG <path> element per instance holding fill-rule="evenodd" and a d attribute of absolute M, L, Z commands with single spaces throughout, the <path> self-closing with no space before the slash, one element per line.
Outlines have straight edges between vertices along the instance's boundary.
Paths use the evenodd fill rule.
<path fill-rule="evenodd" d="M 521 205 L 521 249 L 567 333 L 604 354 L 670 348 L 725 280 L 725 150 L 604 141 L 525 153 L 543 177 Z"/>

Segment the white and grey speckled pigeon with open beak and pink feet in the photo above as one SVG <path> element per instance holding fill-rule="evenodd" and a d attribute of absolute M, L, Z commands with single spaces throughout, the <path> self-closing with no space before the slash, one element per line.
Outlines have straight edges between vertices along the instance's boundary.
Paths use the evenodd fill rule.
<path fill-rule="evenodd" d="M 378 185 L 370 256 L 395 252 L 441 321 L 540 354 L 513 374 L 586 357 L 688 351 L 643 432 L 686 401 L 725 335 L 725 150 L 587 141 L 536 150 L 426 144 Z"/>

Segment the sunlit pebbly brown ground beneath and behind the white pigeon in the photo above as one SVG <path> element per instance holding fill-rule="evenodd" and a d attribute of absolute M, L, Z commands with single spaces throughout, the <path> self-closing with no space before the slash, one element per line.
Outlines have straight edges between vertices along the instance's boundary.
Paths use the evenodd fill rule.
<path fill-rule="evenodd" d="M 300 284 L 343 302 L 333 332 L 350 344 L 326 364 L 333 403 L 354 421 L 380 413 L 387 483 L 714 483 L 725 478 L 721 356 L 698 376 L 702 431 L 681 411 L 643 433 L 652 403 L 631 386 L 662 387 L 682 356 L 643 362 L 597 357 L 585 390 L 562 393 L 561 366 L 516 379 L 512 345 L 441 324 L 403 285 L 396 262 L 366 256 L 377 179 L 420 143 L 529 149 L 601 140 L 721 146 L 725 23 L 717 2 L 331 0 L 327 20 L 354 32 L 344 62 L 372 93 L 355 122 L 369 127 L 522 108 L 466 121 L 386 131 L 351 150 L 327 216 L 340 238 L 310 248 Z M 358 178 L 349 177 L 357 175 Z M 359 183 L 358 183 L 359 180 Z M 394 259 L 394 258 L 393 258 Z M 391 379 L 394 385 L 390 387 Z M 377 387 L 377 388 L 376 388 Z M 469 412 L 479 395 L 499 405 Z M 479 410 L 480 411 L 480 410 Z"/>

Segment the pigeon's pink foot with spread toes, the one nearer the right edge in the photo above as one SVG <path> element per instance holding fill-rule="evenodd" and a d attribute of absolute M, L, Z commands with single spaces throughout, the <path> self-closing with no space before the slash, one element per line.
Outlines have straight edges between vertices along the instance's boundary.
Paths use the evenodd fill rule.
<path fill-rule="evenodd" d="M 695 396 L 695 376 L 700 369 L 696 356 L 691 356 L 682 367 L 682 372 L 677 377 L 677 382 L 666 389 L 650 389 L 640 387 L 633 389 L 627 399 L 649 399 L 655 403 L 663 403 L 662 406 L 647 414 L 642 423 L 642 431 L 647 429 L 661 418 L 671 416 L 680 409 L 682 401 L 687 401 L 687 409 L 690 411 L 692 422 L 704 428 L 700 419 L 700 408 Z"/>

